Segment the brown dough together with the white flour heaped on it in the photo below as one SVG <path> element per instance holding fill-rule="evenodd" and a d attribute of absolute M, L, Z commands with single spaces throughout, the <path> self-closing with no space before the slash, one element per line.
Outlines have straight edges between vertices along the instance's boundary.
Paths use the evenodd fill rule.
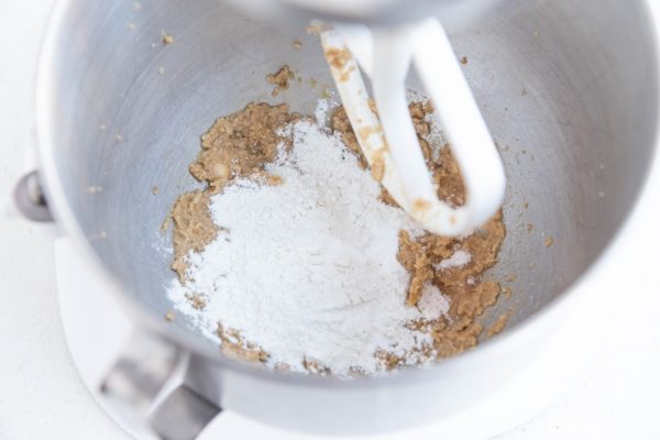
<path fill-rule="evenodd" d="M 461 205 L 458 167 L 430 142 L 430 106 L 410 111 L 439 195 Z M 201 144 L 190 173 L 206 189 L 172 211 L 168 296 L 226 354 L 358 376 L 477 343 L 477 317 L 501 290 L 482 279 L 505 237 L 501 216 L 461 239 L 419 230 L 372 178 L 341 108 L 327 128 L 250 103 Z"/>

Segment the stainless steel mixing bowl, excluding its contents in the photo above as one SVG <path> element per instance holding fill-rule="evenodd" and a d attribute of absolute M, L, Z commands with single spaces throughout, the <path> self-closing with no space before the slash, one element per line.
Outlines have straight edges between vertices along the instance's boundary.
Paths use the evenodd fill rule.
<path fill-rule="evenodd" d="M 490 276 L 513 296 L 484 322 L 515 314 L 498 338 L 433 369 L 341 382 L 224 359 L 184 320 L 163 320 L 173 273 L 160 228 L 177 195 L 199 187 L 187 173 L 199 135 L 249 101 L 310 112 L 331 85 L 317 38 L 304 23 L 254 21 L 216 0 L 59 1 L 37 89 L 47 199 L 88 252 L 81 270 L 102 267 L 142 331 L 193 353 L 195 396 L 320 432 L 420 424 L 514 376 L 561 324 L 566 298 L 590 289 L 581 275 L 632 209 L 654 150 L 658 53 L 646 3 L 508 0 L 469 25 L 449 24 L 508 176 L 508 237 Z M 162 31 L 175 43 L 162 44 Z M 318 86 L 293 84 L 272 98 L 264 77 L 285 63 Z"/>

